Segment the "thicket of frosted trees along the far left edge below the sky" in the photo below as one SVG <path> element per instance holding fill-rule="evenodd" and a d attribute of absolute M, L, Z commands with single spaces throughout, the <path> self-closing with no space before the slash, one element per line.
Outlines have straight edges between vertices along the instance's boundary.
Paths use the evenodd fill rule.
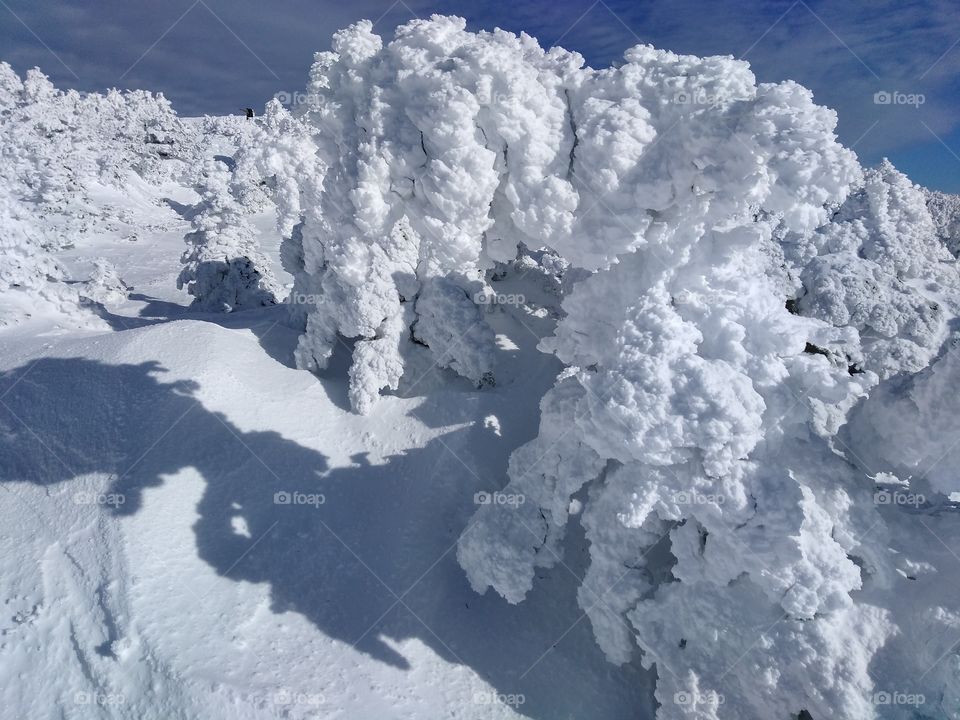
<path fill-rule="evenodd" d="M 97 266 L 90 282 L 71 286 L 52 253 L 115 220 L 92 199 L 96 186 L 123 191 L 161 182 L 183 168 L 173 156 L 188 136 L 163 96 L 61 92 L 37 69 L 21 79 L 0 63 L 4 324 L 46 310 L 74 324 L 100 324 L 90 296 L 120 288 L 115 272 Z"/>

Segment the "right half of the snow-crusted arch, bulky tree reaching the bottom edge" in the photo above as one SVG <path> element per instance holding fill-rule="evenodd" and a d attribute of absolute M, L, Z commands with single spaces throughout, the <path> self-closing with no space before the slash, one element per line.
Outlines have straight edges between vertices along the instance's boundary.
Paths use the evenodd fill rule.
<path fill-rule="evenodd" d="M 541 403 L 539 437 L 510 462 L 505 492 L 526 502 L 481 508 L 461 563 L 478 590 L 520 600 L 536 566 L 558 562 L 582 497 L 580 604 L 608 657 L 624 662 L 638 644 L 656 664 L 663 717 L 863 716 L 869 659 L 892 628 L 851 598 L 861 580 L 848 554 L 869 527 L 872 489 L 826 437 L 830 408 L 872 377 L 809 351 L 849 333 L 790 314 L 769 260 L 778 228 L 813 232 L 859 170 L 835 118 L 796 85 L 753 87 L 745 66 L 719 58 L 626 59 L 581 88 L 574 111 L 578 128 L 620 143 L 578 143 L 574 160 L 575 174 L 583 163 L 606 180 L 596 195 L 623 196 L 606 220 L 618 262 L 564 298 L 542 347 L 570 369 Z M 717 100 L 664 102 L 678 92 Z M 649 108 L 648 127 L 625 114 L 634 104 Z M 611 227 L 631 200 L 637 220 Z M 573 243 L 561 252 L 596 265 Z M 738 664 L 758 618 L 781 624 Z M 838 628 L 856 632 L 831 654 Z M 812 653 L 818 663 L 803 660 Z"/>

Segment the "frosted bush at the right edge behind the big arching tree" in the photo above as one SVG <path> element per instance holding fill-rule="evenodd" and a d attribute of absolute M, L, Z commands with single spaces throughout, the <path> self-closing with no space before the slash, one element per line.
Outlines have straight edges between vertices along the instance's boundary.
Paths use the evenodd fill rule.
<path fill-rule="evenodd" d="M 863 367 L 881 377 L 924 367 L 960 315 L 954 258 L 920 188 L 889 162 L 866 173 L 832 222 L 786 247 L 791 259 L 815 255 L 800 273 L 799 311 L 856 328 Z"/>

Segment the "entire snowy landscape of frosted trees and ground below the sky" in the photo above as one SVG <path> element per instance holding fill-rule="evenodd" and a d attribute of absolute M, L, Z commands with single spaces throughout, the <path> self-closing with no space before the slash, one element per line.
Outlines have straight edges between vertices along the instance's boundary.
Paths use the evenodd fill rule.
<path fill-rule="evenodd" d="M 0 64 L 0 718 L 960 718 L 957 198 L 464 28 Z"/>

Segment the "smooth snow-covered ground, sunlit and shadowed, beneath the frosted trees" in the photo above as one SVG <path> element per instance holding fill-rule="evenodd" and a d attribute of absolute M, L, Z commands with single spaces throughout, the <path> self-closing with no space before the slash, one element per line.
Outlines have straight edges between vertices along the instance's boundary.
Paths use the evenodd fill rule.
<path fill-rule="evenodd" d="M 456 563 L 475 494 L 535 431 L 543 320 L 498 318 L 494 391 L 427 365 L 359 416 L 342 363 L 292 368 L 286 308 L 186 312 L 188 189 L 109 199 L 129 223 L 59 256 L 132 286 L 109 328 L 3 331 L 0 714 L 651 714 L 650 679 L 609 666 L 576 605 L 582 537 L 521 607 Z"/>

